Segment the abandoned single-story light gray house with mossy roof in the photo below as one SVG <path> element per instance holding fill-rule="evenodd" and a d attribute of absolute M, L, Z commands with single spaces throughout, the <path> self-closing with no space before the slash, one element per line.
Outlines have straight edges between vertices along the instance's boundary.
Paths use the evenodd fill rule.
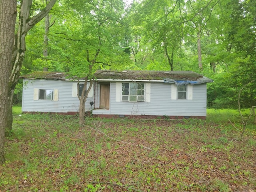
<path fill-rule="evenodd" d="M 76 114 L 80 79 L 64 72 L 24 75 L 22 112 Z M 206 83 L 213 80 L 192 71 L 97 70 L 85 103 L 100 117 L 206 118 Z M 87 83 L 89 87 L 89 82 Z"/>

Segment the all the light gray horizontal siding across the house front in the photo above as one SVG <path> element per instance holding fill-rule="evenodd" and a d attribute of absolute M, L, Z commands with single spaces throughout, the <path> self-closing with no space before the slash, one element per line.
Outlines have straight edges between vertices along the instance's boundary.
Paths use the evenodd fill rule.
<path fill-rule="evenodd" d="M 74 82 L 62 80 L 24 79 L 22 95 L 23 112 L 78 112 L 79 99 L 72 97 Z M 58 101 L 34 100 L 34 89 L 58 89 Z M 94 109 L 100 106 L 100 83 L 95 82 L 95 98 L 87 98 L 86 111 L 93 114 L 111 115 L 168 115 L 168 116 L 206 116 L 206 84 L 193 85 L 192 100 L 172 100 L 171 83 L 151 82 L 150 102 L 116 102 L 116 82 L 110 82 L 110 108 Z M 94 102 L 90 106 L 90 101 Z"/>

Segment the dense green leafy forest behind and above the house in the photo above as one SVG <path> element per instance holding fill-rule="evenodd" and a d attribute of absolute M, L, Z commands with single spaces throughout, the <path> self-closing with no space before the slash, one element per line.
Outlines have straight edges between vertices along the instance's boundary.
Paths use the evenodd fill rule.
<path fill-rule="evenodd" d="M 34 0 L 34 14 L 44 6 Z M 192 70 L 214 80 L 209 106 L 238 108 L 239 91 L 256 79 L 256 1 L 58 0 L 26 36 L 21 75 L 83 76 L 92 63 L 93 71 Z M 21 83 L 14 103 L 21 101 Z M 240 104 L 255 106 L 255 81 Z"/>

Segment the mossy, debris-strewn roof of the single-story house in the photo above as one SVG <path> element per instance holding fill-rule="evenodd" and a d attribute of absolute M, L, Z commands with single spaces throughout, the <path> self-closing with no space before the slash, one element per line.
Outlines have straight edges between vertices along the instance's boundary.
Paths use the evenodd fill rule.
<path fill-rule="evenodd" d="M 164 82 L 196 81 L 200 83 L 213 81 L 193 71 L 97 70 L 95 77 L 97 80 L 164 80 Z M 20 78 L 66 80 L 68 73 L 40 71 L 26 74 Z"/>

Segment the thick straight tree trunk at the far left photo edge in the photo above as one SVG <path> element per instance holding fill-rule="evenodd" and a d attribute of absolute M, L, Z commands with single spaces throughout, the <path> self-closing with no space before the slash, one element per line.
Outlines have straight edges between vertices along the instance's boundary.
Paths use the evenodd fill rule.
<path fill-rule="evenodd" d="M 8 108 L 8 80 L 16 20 L 16 0 L 0 0 L 0 164 L 5 161 L 4 142 Z"/>

